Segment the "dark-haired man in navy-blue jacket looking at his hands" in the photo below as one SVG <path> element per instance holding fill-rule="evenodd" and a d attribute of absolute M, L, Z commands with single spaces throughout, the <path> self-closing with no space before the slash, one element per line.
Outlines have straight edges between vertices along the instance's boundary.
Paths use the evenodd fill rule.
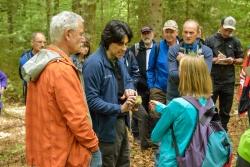
<path fill-rule="evenodd" d="M 131 38 L 126 23 L 110 21 L 102 32 L 100 47 L 83 65 L 86 97 L 103 167 L 130 166 L 126 126 L 137 92 L 122 57 Z"/>

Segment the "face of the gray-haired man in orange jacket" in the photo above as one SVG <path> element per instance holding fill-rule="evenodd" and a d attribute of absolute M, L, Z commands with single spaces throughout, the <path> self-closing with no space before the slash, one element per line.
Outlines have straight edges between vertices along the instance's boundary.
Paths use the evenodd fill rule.
<path fill-rule="evenodd" d="M 84 26 L 83 23 L 79 21 L 77 28 L 74 30 L 68 30 L 67 33 L 67 42 L 70 54 L 79 52 L 84 41 Z"/>

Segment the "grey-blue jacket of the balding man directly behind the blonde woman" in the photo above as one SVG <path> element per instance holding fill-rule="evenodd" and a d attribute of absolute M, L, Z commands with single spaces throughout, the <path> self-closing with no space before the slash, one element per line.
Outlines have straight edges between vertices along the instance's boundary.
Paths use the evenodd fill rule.
<path fill-rule="evenodd" d="M 198 41 L 196 41 L 198 42 Z M 169 76 L 168 76 L 168 87 L 167 87 L 167 100 L 170 101 L 173 98 L 180 97 L 178 86 L 179 86 L 179 62 L 176 60 L 180 52 L 180 47 L 182 43 L 170 47 L 168 53 L 168 64 L 169 64 Z M 200 54 L 204 56 L 205 62 L 208 66 L 208 70 L 211 71 L 213 53 L 212 50 L 200 44 Z"/>

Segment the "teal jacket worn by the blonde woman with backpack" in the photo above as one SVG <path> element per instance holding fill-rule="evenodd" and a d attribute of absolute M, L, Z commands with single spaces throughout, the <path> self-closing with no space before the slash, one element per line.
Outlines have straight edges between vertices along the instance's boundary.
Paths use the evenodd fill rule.
<path fill-rule="evenodd" d="M 206 104 L 205 98 L 200 98 L 202 106 Z M 175 98 L 166 106 L 161 103 L 156 105 L 156 111 L 161 113 L 151 134 L 154 143 L 160 143 L 159 167 L 175 167 L 176 154 L 172 145 L 172 128 L 176 136 L 177 146 L 183 156 L 188 146 L 196 124 L 197 111 L 192 104 L 183 98 Z"/>

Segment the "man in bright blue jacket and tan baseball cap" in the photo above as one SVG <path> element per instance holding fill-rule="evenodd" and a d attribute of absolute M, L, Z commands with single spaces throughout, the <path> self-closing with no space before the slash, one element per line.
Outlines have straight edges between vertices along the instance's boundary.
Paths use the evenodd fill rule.
<path fill-rule="evenodd" d="M 178 43 L 178 25 L 174 20 L 168 20 L 163 27 L 163 38 L 155 45 L 149 56 L 147 83 L 150 89 L 150 100 L 166 103 L 168 79 L 168 50 Z"/>

